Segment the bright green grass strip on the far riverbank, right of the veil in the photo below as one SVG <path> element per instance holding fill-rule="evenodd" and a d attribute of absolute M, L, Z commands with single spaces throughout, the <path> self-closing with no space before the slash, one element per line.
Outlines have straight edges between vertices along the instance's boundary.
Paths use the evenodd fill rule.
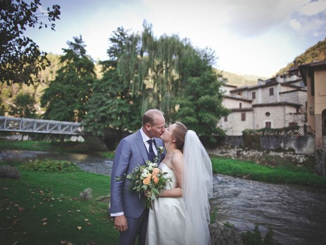
<path fill-rule="evenodd" d="M 244 177 L 268 183 L 302 184 L 326 188 L 326 176 L 307 173 L 305 168 L 284 166 L 263 166 L 250 161 L 212 157 L 215 174 Z"/>

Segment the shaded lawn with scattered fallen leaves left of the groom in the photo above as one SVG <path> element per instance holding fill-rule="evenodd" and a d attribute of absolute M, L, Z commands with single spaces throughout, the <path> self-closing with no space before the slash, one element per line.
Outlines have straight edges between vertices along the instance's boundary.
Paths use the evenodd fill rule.
<path fill-rule="evenodd" d="M 85 171 L 20 173 L 18 180 L 0 179 L 0 244 L 118 243 L 107 204 L 97 201 L 109 195 L 110 177 Z M 80 201 L 87 187 L 93 198 Z"/>

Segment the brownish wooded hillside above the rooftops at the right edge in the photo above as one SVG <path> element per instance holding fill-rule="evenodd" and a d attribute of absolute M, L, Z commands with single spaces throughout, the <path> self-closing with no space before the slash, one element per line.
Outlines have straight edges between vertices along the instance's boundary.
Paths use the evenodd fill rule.
<path fill-rule="evenodd" d="M 305 53 L 297 56 L 294 61 L 297 65 L 308 64 L 314 60 L 325 60 L 326 59 L 326 38 L 322 41 L 319 41 L 317 44 L 308 48 Z M 293 67 L 293 62 L 289 63 L 286 67 L 282 68 L 277 72 L 277 74 L 282 75 L 284 72 L 287 72 L 291 67 Z"/>

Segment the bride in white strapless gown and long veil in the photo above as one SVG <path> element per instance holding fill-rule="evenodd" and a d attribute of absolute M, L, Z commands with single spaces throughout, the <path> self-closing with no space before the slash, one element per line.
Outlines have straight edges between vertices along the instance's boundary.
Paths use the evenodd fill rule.
<path fill-rule="evenodd" d="M 166 157 L 159 167 L 171 182 L 152 201 L 146 244 L 210 244 L 212 166 L 197 134 L 176 122 L 160 136 Z"/>

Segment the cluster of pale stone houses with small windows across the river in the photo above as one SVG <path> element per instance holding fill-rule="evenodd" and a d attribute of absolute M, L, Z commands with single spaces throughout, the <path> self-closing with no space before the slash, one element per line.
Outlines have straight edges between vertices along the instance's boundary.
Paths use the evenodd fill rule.
<path fill-rule="evenodd" d="M 254 86 L 224 85 L 223 105 L 231 113 L 218 124 L 227 135 L 240 136 L 245 129 L 284 128 L 306 124 L 307 89 L 296 74 L 258 80 Z"/>

